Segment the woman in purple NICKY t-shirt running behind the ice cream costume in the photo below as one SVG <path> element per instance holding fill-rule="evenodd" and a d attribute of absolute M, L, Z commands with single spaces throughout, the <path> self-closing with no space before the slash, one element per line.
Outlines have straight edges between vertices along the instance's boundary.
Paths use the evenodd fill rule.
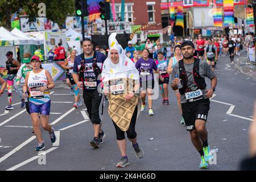
<path fill-rule="evenodd" d="M 153 89 L 154 89 L 154 73 L 153 70 L 156 73 L 159 73 L 158 67 L 156 67 L 155 61 L 148 57 L 149 51 L 148 49 L 144 49 L 142 52 L 142 57 L 139 59 L 135 67 L 139 71 L 139 75 L 141 76 L 140 82 L 141 82 L 141 111 L 145 110 L 146 106 L 146 94 L 148 94 L 148 114 L 154 115 L 154 112 L 152 110 L 152 95 L 153 95 Z"/>

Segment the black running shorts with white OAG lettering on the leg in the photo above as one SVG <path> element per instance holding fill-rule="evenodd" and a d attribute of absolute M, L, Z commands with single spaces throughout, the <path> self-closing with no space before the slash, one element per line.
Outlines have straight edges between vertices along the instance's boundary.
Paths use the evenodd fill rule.
<path fill-rule="evenodd" d="M 181 104 L 181 108 L 186 129 L 187 131 L 192 131 L 195 129 L 196 119 L 207 122 L 210 100 L 206 98 L 195 102 L 184 103 Z"/>

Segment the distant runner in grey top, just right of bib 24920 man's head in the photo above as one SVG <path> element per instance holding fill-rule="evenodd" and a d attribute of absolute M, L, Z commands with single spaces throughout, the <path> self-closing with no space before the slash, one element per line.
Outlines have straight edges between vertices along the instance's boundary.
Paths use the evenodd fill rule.
<path fill-rule="evenodd" d="M 212 72 L 214 72 L 215 60 L 218 59 L 218 52 L 217 47 L 212 44 L 212 40 L 210 39 L 205 47 L 204 57 L 205 60 L 207 60 L 207 63 L 212 67 Z"/>

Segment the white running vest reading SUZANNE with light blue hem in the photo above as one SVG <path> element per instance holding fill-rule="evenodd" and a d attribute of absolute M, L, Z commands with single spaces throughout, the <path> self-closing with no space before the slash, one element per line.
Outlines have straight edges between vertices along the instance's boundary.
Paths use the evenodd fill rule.
<path fill-rule="evenodd" d="M 36 105 L 42 105 L 51 100 L 48 91 L 39 91 L 40 87 L 47 85 L 46 69 L 43 69 L 40 73 L 31 71 L 27 82 L 28 91 L 30 92 L 30 102 Z"/>

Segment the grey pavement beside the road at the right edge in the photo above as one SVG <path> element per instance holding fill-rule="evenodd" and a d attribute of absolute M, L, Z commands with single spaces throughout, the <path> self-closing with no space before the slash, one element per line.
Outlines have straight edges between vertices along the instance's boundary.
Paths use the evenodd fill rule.
<path fill-rule="evenodd" d="M 248 64 L 247 56 L 239 57 L 238 61 L 235 62 L 235 67 L 239 69 L 242 74 L 252 77 L 254 80 L 256 80 L 256 64 Z"/>

